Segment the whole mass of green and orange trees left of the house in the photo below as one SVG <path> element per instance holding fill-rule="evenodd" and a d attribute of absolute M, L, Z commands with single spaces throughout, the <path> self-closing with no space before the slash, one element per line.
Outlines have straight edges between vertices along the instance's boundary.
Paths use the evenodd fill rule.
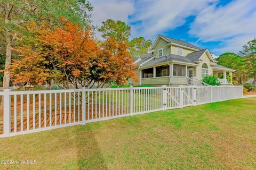
<path fill-rule="evenodd" d="M 143 37 L 131 39 L 131 27 L 107 20 L 92 25 L 88 1 L 3 0 L 0 2 L 0 79 L 44 84 L 52 80 L 88 87 L 125 83 L 134 77 L 134 58 L 151 46 Z M 102 32 L 102 40 L 94 31 Z M 80 37 L 77 37 L 80 36 Z"/>

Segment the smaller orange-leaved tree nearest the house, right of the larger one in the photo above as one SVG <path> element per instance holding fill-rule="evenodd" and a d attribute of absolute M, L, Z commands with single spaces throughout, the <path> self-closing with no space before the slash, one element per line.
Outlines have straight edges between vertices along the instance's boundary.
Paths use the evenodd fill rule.
<path fill-rule="evenodd" d="M 118 44 L 112 38 L 103 42 L 97 58 L 92 60 L 90 80 L 94 80 L 100 88 L 113 82 L 118 85 L 126 84 L 129 78 L 137 81 L 135 72 L 131 71 L 134 65 L 127 48 L 127 43 L 122 41 Z"/>

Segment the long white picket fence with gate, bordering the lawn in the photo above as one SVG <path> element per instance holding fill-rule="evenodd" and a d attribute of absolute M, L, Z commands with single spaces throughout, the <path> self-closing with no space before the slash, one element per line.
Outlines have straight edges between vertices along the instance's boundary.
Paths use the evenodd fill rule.
<path fill-rule="evenodd" d="M 243 96 L 242 86 L 129 87 L 0 92 L 0 137 Z"/>

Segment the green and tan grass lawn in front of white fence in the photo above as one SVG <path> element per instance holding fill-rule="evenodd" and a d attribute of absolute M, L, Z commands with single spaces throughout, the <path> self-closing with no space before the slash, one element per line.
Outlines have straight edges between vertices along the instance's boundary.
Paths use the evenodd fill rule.
<path fill-rule="evenodd" d="M 0 169 L 256 169 L 256 98 L 0 139 Z"/>

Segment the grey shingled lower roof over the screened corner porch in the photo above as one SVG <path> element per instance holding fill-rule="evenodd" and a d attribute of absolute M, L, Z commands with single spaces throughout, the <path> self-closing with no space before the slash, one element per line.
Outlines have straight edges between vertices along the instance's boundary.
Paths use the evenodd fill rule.
<path fill-rule="evenodd" d="M 151 60 L 145 64 L 142 65 L 143 67 L 148 67 L 151 65 L 155 65 L 155 64 L 159 64 L 159 63 L 163 63 L 163 62 L 168 62 L 168 61 L 175 61 L 175 62 L 184 62 L 184 63 L 190 63 L 190 64 L 195 64 L 193 63 L 189 58 L 187 57 L 183 57 L 183 56 L 179 56 L 179 55 L 174 55 L 174 54 L 169 54 L 163 57 L 158 57 L 155 58 L 154 60 Z"/>

